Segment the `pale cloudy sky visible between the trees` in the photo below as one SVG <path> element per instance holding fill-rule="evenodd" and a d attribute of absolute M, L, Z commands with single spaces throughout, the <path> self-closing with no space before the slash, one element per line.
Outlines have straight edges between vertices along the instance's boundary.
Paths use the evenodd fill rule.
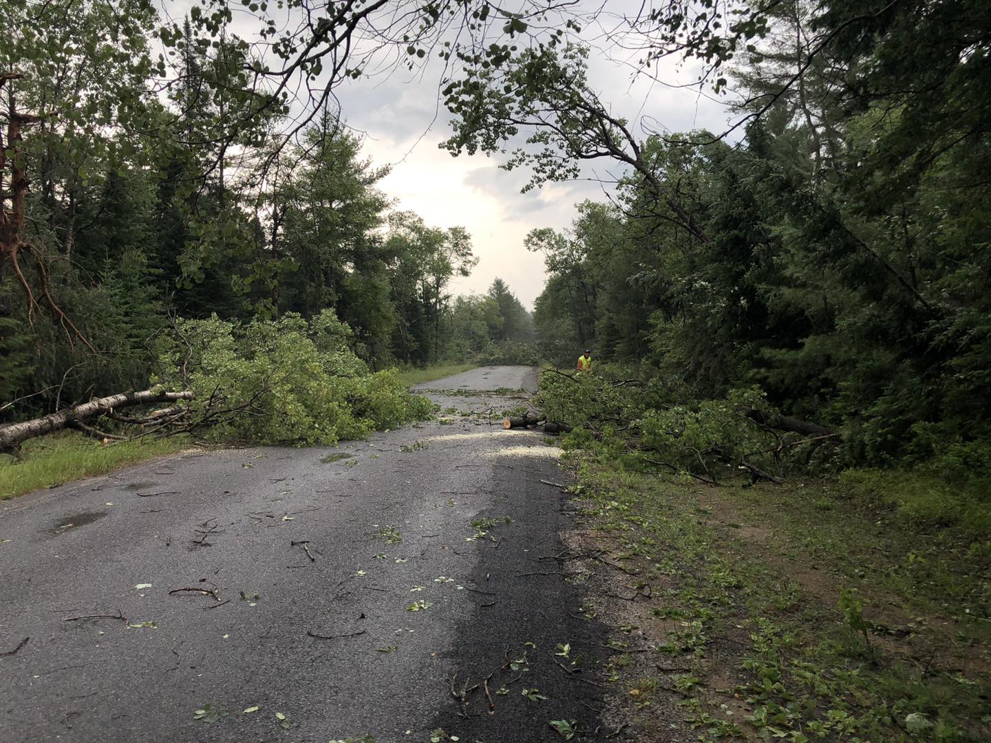
<path fill-rule="evenodd" d="M 522 0 L 515 0 L 516 3 Z M 181 18 L 197 0 L 160 0 L 166 16 Z M 602 0 L 588 0 L 589 7 L 603 7 Z M 509 7 L 512 1 L 502 3 Z M 649 6 L 650 3 L 647 3 Z M 398 3 L 397 3 L 398 7 Z M 618 23 L 624 13 L 635 15 L 641 0 L 607 0 L 602 24 L 583 32 L 594 40 L 605 24 Z M 235 32 L 251 38 L 254 26 L 236 17 Z M 654 128 L 684 132 L 693 128 L 722 131 L 727 120 L 723 106 L 710 90 L 677 87 L 697 77 L 694 67 L 678 68 L 672 61 L 658 77 L 665 84 L 631 79 L 631 66 L 617 53 L 593 52 L 589 79 L 613 115 L 633 123 L 636 131 L 646 120 Z M 479 265 L 473 274 L 459 279 L 455 293 L 482 293 L 495 276 L 503 278 L 519 299 L 532 308 L 544 283 L 539 255 L 523 248 L 526 234 L 536 227 L 567 228 L 575 215 L 575 203 L 587 198 L 605 200 L 604 184 L 595 180 L 550 183 L 525 194 L 520 188 L 529 173 L 498 167 L 498 157 L 484 155 L 452 158 L 438 144 L 450 136 L 450 116 L 438 107 L 438 83 L 442 70 L 430 66 L 416 73 L 402 70 L 376 79 L 349 81 L 336 90 L 349 126 L 364 133 L 365 153 L 375 164 L 389 164 L 391 173 L 381 187 L 396 201 L 396 208 L 419 214 L 434 227 L 463 226 L 473 238 Z M 614 177 L 618 169 L 598 162 L 590 177 Z M 606 186 L 607 187 L 607 186 Z"/>

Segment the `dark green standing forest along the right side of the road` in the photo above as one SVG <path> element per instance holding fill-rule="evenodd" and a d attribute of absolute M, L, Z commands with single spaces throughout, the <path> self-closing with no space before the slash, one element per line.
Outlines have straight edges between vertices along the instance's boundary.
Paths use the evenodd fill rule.
<path fill-rule="evenodd" d="M 758 385 L 841 430 L 847 464 L 986 475 L 988 8 L 773 5 L 725 72 L 737 141 L 629 142 L 614 200 L 531 233 L 538 330 L 557 356 L 647 365 L 681 399 Z M 534 95 L 570 121 L 557 92 Z"/>

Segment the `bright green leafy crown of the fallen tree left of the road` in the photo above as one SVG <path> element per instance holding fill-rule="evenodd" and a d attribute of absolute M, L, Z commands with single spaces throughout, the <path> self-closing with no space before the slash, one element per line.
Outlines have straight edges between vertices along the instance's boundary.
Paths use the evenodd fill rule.
<path fill-rule="evenodd" d="M 394 372 L 370 373 L 348 335 L 331 310 L 310 323 L 292 314 L 244 325 L 180 320 L 159 341 L 157 381 L 196 393 L 192 415 L 214 423 L 214 440 L 333 444 L 425 418 L 430 402 Z M 225 412 L 236 410 L 248 414 Z"/>

